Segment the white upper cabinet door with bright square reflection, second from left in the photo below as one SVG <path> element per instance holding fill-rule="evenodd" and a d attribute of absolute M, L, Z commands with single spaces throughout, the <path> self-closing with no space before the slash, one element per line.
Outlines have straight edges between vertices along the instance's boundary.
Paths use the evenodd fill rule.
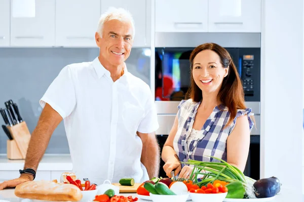
<path fill-rule="evenodd" d="M 13 13 L 13 12 L 11 12 Z M 11 15 L 11 46 L 54 46 L 55 0 L 36 0 L 35 17 Z"/>

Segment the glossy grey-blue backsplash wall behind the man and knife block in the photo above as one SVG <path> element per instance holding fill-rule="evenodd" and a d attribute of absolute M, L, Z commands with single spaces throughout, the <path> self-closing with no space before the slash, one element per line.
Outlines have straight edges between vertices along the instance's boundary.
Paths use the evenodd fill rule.
<path fill-rule="evenodd" d="M 42 111 L 39 100 L 60 70 L 71 63 L 93 61 L 98 54 L 98 48 L 0 48 L 0 108 L 9 99 L 17 103 L 31 133 Z M 149 49 L 133 48 L 126 63 L 129 72 L 150 84 Z M 6 154 L 7 139 L 1 129 L 0 154 Z M 55 129 L 46 153 L 69 153 L 63 121 Z"/>

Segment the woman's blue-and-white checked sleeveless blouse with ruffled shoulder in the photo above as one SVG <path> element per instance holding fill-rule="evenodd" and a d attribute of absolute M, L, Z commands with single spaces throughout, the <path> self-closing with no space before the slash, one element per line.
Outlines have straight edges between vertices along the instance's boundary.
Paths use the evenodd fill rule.
<path fill-rule="evenodd" d="M 204 161 L 204 162 L 218 162 L 210 158 L 217 157 L 227 161 L 226 141 L 229 134 L 235 127 L 236 120 L 239 116 L 247 115 L 249 121 L 250 131 L 254 125 L 250 116 L 252 109 L 238 110 L 233 123 L 226 128 L 230 118 L 230 113 L 227 108 L 215 107 L 211 115 L 204 124 L 202 131 L 194 138 L 187 146 L 187 138 L 189 137 L 194 124 L 197 109 L 200 103 L 195 103 L 192 99 L 182 100 L 178 105 L 178 129 L 173 141 L 173 147 L 180 161 L 186 162 L 189 159 Z M 182 164 L 184 166 L 184 164 Z"/>

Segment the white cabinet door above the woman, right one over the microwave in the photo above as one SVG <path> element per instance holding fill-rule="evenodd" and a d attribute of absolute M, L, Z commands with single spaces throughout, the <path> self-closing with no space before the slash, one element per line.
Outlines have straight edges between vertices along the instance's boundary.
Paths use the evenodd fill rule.
<path fill-rule="evenodd" d="M 209 0 L 209 32 L 260 32 L 261 0 Z"/>

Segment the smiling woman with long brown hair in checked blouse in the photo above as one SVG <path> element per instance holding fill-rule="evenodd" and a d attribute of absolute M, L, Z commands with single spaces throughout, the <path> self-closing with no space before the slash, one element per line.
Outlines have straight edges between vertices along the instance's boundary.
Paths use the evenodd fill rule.
<path fill-rule="evenodd" d="M 236 66 L 225 48 L 205 43 L 190 56 L 191 87 L 162 151 L 163 166 L 179 178 L 189 178 L 187 160 L 217 162 L 217 157 L 244 172 L 253 127 Z"/>

